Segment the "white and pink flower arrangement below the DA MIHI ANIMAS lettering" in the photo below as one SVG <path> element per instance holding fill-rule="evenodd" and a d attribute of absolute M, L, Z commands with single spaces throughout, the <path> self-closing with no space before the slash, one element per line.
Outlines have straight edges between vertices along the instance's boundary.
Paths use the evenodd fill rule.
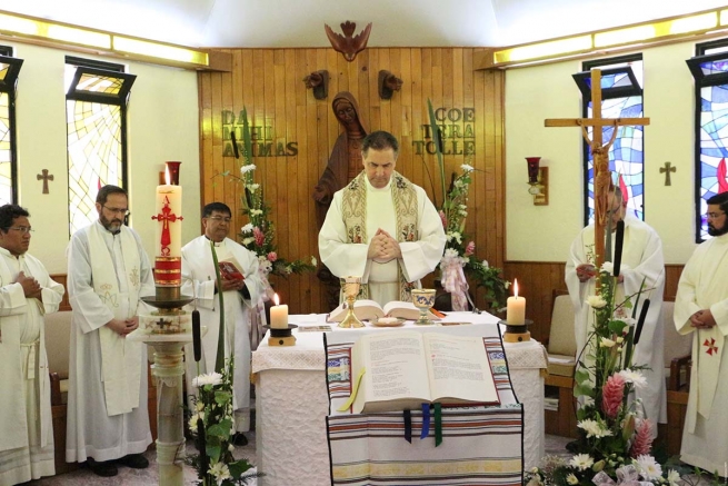
<path fill-rule="evenodd" d="M 235 131 L 231 132 L 231 138 L 236 159 L 240 159 L 242 155 L 240 176 L 231 175 L 229 171 L 221 175 L 242 185 L 242 212 L 248 217 L 249 222 L 240 229 L 241 245 L 258 256 L 260 269 L 266 278 L 269 274 L 287 277 L 291 274 L 316 270 L 318 262 L 315 257 L 288 261 L 278 255 L 275 244 L 276 227 L 270 220 L 270 206 L 263 197 L 263 188 L 255 181 L 253 177 L 256 165 L 252 162 L 250 125 L 245 108 L 242 109 L 242 153 L 239 153 Z"/>

